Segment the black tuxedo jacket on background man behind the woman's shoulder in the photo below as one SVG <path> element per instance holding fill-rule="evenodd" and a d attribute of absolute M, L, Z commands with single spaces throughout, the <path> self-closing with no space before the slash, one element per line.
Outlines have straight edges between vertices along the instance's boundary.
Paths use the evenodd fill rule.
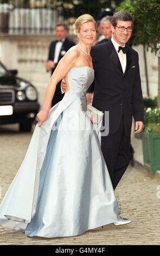
<path fill-rule="evenodd" d="M 54 60 L 54 53 L 55 53 L 55 45 L 56 45 L 56 40 L 55 41 L 52 41 L 50 43 L 50 47 L 49 47 L 49 56 L 48 56 L 48 59 L 49 60 Z M 69 50 L 69 48 L 71 48 L 72 46 L 74 46 L 74 42 L 69 40 L 68 38 L 65 39 L 65 41 L 63 42 L 62 44 L 62 47 L 61 47 L 61 51 L 60 51 L 60 54 L 59 54 L 59 59 L 58 59 L 58 62 L 60 61 L 60 59 L 65 55 L 65 52 L 67 52 Z M 56 68 L 56 66 L 55 66 Z M 54 69 L 52 69 L 52 74 L 54 72 Z"/>

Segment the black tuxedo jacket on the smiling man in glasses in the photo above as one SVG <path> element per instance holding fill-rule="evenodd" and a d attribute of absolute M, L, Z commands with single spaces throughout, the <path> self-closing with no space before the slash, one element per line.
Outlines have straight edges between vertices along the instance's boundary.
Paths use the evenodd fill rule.
<path fill-rule="evenodd" d="M 95 73 L 92 105 L 100 111 L 109 111 L 109 133 L 118 130 L 123 115 L 125 133 L 130 136 L 132 116 L 135 121 L 143 121 L 144 105 L 138 53 L 126 47 L 125 73 L 111 40 L 92 47 Z"/>

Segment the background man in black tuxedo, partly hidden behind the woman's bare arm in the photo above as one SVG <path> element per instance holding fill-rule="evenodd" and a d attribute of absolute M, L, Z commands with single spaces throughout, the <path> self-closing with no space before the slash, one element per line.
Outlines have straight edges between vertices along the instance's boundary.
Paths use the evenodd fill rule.
<path fill-rule="evenodd" d="M 65 55 L 65 53 L 74 46 L 74 42 L 69 40 L 66 36 L 68 33 L 68 28 L 65 23 L 58 23 L 55 27 L 55 35 L 57 40 L 52 41 L 49 47 L 48 61 L 44 64 L 47 71 L 51 71 L 53 74 L 57 64 L 60 59 Z M 61 93 L 60 87 L 61 81 L 57 84 L 55 94 L 52 100 L 52 107 L 56 105 L 57 102 L 61 101 L 63 94 Z"/>

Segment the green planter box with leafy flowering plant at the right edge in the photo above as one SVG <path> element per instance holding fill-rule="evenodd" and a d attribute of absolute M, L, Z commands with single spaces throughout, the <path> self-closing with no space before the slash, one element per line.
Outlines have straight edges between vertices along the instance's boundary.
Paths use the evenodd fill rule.
<path fill-rule="evenodd" d="M 144 109 L 144 128 L 141 132 L 144 167 L 160 170 L 160 108 Z"/>

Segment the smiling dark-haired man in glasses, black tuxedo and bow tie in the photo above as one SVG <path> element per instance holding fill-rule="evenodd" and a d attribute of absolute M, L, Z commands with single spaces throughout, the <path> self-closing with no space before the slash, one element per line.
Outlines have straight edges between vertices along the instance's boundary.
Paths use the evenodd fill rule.
<path fill-rule="evenodd" d="M 95 73 L 92 105 L 100 111 L 109 111 L 109 134 L 103 136 L 101 132 L 101 149 L 114 190 L 130 162 L 132 116 L 136 121 L 135 133 L 143 129 L 138 53 L 125 46 L 132 26 L 132 16 L 118 11 L 112 17 L 111 40 L 91 49 Z M 93 86 L 88 93 L 92 91 Z"/>

